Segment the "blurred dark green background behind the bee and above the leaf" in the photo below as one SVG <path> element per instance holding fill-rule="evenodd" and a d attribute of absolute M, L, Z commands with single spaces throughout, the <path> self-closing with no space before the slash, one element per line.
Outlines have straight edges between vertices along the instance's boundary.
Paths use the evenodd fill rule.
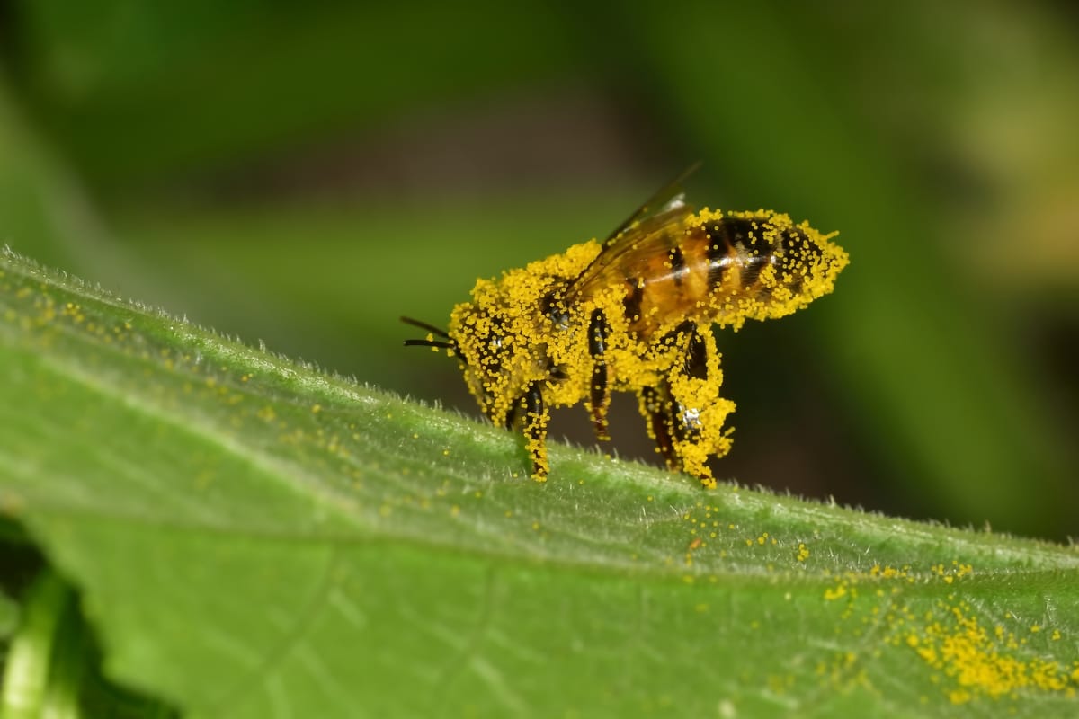
<path fill-rule="evenodd" d="M 720 333 L 720 476 L 1079 534 L 1070 4 L 0 1 L 0 241 L 475 414 L 408 350 L 477 277 L 698 205 L 838 230 L 835 294 Z M 615 447 L 655 461 L 632 402 Z M 584 410 L 554 432 L 592 443 Z M 558 481 L 557 467 L 552 481 Z"/>

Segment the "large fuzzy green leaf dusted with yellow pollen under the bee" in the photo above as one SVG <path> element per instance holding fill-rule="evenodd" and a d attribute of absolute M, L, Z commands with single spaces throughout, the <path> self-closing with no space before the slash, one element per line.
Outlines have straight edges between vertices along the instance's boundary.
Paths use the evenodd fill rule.
<path fill-rule="evenodd" d="M 1076 711 L 1075 548 L 564 446 L 538 484 L 506 432 L 10 252 L 0 367 L 0 508 L 190 716 Z"/>

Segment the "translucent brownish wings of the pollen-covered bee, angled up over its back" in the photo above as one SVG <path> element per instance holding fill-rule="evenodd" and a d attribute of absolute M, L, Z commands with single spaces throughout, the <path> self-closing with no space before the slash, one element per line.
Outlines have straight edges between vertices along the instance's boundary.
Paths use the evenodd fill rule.
<path fill-rule="evenodd" d="M 571 296 L 584 291 L 595 281 L 605 279 L 604 269 L 625 259 L 624 255 L 628 252 L 647 254 L 659 247 L 666 249 L 669 231 L 681 229 L 683 220 L 693 213 L 693 207 L 685 202 L 685 190 L 682 189 L 682 183 L 699 167 L 699 162 L 691 165 L 681 175 L 660 188 L 614 232 L 607 235 L 606 239 L 603 240 L 603 249 L 573 281 Z"/>

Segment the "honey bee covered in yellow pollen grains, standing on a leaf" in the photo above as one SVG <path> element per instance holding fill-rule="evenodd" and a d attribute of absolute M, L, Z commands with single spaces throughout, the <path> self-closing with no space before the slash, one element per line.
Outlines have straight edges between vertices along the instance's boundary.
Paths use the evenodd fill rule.
<path fill-rule="evenodd" d="M 735 404 L 720 396 L 711 326 L 789 315 L 831 292 L 847 265 L 837 233 L 787 215 L 695 211 L 682 190 L 695 169 L 603 241 L 478 280 L 448 331 L 401 318 L 428 332 L 406 345 L 456 358 L 483 414 L 523 432 L 533 479 L 550 469 L 550 407 L 584 402 L 609 440 L 611 393 L 629 391 L 667 466 L 713 488 L 707 460 L 730 450 Z"/>

